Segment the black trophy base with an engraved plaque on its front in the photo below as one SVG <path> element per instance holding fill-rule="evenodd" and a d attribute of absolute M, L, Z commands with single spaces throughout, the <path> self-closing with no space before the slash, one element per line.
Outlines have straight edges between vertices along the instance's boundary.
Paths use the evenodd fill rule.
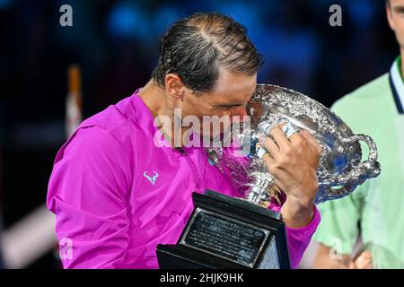
<path fill-rule="evenodd" d="M 194 193 L 194 211 L 177 244 L 159 244 L 162 269 L 288 269 L 280 213 L 211 190 Z"/>

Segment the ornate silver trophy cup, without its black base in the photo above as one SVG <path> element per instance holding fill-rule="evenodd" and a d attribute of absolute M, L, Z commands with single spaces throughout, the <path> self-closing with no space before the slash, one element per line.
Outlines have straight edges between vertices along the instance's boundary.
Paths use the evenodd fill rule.
<path fill-rule="evenodd" d="M 300 92 L 258 84 L 248 114 L 250 125 L 237 135 L 236 148 L 209 147 L 207 153 L 252 204 L 282 204 L 285 201 L 285 194 L 276 186 L 261 160 L 266 151 L 256 148 L 260 134 L 270 136 L 269 130 L 283 123 L 286 135 L 306 129 L 321 144 L 317 170 L 319 189 L 314 204 L 347 196 L 364 180 L 375 178 L 381 172 L 376 145 L 371 137 L 355 135 L 330 109 Z M 361 141 L 369 148 L 365 161 L 362 161 Z"/>

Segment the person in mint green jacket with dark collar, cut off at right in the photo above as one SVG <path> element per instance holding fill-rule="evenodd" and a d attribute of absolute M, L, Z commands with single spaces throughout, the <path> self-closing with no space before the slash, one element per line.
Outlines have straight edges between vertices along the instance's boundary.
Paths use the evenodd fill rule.
<path fill-rule="evenodd" d="M 387 1 L 386 11 L 400 57 L 388 74 L 332 108 L 356 134 L 373 137 L 382 173 L 352 195 L 318 206 L 322 222 L 313 240 L 321 244 L 315 268 L 404 268 L 404 0 Z"/>

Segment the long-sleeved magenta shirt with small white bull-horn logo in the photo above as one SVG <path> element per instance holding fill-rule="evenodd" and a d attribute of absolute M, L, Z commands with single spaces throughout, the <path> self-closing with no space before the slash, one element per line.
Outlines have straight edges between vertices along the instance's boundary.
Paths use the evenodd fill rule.
<path fill-rule="evenodd" d="M 179 239 L 192 192 L 241 196 L 204 148 L 157 147 L 156 130 L 135 92 L 83 121 L 57 152 L 47 204 L 65 268 L 158 268 L 155 248 Z M 293 268 L 319 222 L 314 207 L 309 225 L 286 227 Z"/>

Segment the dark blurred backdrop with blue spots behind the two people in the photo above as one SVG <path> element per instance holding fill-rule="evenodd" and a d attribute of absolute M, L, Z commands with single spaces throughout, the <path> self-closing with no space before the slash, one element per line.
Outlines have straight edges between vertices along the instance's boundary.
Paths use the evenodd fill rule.
<path fill-rule="evenodd" d="M 73 8 L 73 27 L 59 24 L 62 4 Z M 342 27 L 329 25 L 331 4 L 342 7 Z M 142 87 L 164 30 L 195 12 L 242 22 L 266 58 L 260 83 L 302 91 L 328 107 L 386 73 L 399 55 L 383 0 L 0 0 L 3 230 L 45 201 L 66 140 L 68 65 L 82 71 L 83 117 L 90 117 Z M 58 267 L 57 252 L 26 267 Z"/>

